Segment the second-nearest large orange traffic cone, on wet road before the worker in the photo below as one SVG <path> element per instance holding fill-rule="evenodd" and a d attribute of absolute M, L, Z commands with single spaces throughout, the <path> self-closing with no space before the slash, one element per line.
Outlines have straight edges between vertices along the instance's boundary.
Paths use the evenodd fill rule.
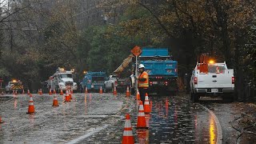
<path fill-rule="evenodd" d="M 147 129 L 148 128 L 146 126 L 146 118 L 145 118 L 145 114 L 144 114 L 144 108 L 143 108 L 142 101 L 139 103 L 137 128 L 138 129 Z"/>

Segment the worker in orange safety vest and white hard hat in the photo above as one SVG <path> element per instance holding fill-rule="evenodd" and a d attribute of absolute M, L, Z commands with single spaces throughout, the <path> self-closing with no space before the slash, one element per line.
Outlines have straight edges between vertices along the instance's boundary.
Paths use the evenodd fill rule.
<path fill-rule="evenodd" d="M 141 73 L 139 75 L 139 77 L 137 78 L 138 79 L 138 91 L 139 91 L 141 100 L 142 100 L 143 105 L 144 105 L 145 95 L 146 95 L 147 90 L 149 88 L 149 74 L 146 73 L 145 66 L 142 65 L 142 64 L 140 64 L 138 66 L 138 70 Z"/>

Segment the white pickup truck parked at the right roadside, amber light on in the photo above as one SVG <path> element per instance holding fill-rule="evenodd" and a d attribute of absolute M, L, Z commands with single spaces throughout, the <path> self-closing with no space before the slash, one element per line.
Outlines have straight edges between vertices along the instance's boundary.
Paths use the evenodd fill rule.
<path fill-rule="evenodd" d="M 224 100 L 233 101 L 234 70 L 228 69 L 226 62 L 206 64 L 206 72 L 195 66 L 190 78 L 191 100 L 198 102 L 201 96 L 222 96 Z"/>

